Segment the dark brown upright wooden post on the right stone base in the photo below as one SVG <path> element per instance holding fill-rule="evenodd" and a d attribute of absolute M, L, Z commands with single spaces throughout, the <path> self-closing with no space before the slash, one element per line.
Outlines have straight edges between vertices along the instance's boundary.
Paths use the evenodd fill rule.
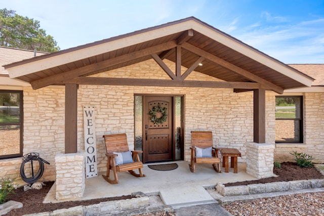
<path fill-rule="evenodd" d="M 253 142 L 265 143 L 265 90 L 253 91 Z"/>

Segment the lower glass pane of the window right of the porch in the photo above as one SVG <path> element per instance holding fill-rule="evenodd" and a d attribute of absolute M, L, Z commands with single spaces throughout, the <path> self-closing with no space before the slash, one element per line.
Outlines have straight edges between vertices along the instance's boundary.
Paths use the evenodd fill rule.
<path fill-rule="evenodd" d="M 276 120 L 275 140 L 276 141 L 300 141 L 300 121 L 299 120 Z"/>

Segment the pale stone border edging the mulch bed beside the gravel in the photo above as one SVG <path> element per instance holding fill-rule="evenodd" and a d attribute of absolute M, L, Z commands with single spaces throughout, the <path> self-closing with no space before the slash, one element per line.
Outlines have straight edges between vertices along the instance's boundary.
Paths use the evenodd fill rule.
<path fill-rule="evenodd" d="M 239 196 L 322 187 L 324 187 L 324 179 L 273 182 L 230 187 L 225 187 L 222 183 L 217 183 L 215 188 L 222 196 Z"/>

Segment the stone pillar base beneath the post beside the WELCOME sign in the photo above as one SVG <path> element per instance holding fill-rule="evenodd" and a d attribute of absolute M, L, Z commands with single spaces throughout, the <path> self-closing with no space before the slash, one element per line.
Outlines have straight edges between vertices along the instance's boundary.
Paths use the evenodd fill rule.
<path fill-rule="evenodd" d="M 85 191 L 85 153 L 57 154 L 56 199 L 74 200 Z"/>

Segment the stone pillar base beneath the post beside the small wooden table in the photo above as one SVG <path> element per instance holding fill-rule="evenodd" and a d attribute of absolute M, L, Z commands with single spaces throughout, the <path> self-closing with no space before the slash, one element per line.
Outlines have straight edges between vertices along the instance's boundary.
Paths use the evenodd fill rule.
<path fill-rule="evenodd" d="M 247 174 L 258 178 L 273 176 L 274 144 L 248 142 L 247 147 Z"/>

